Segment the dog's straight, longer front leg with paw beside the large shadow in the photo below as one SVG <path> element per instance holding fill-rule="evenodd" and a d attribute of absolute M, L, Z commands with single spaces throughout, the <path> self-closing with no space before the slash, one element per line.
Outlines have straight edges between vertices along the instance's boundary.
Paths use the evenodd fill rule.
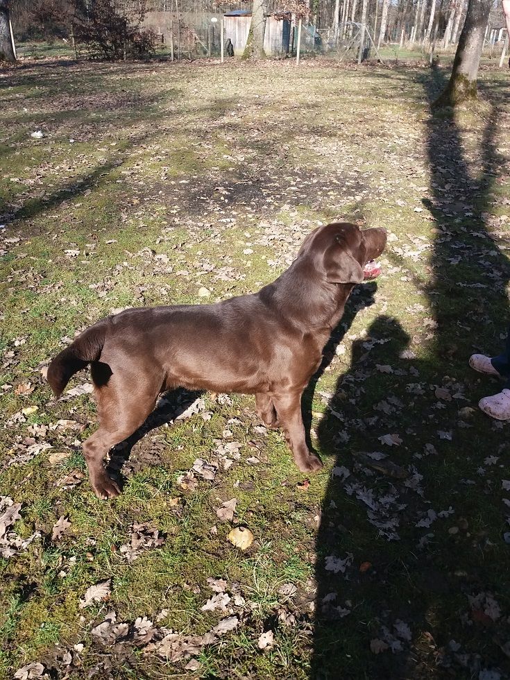
<path fill-rule="evenodd" d="M 275 405 L 280 427 L 283 427 L 287 444 L 294 456 L 294 462 L 303 473 L 312 470 L 320 470 L 323 466 L 318 457 L 310 453 L 306 443 L 305 425 L 301 414 L 301 395 L 300 392 L 287 392 L 275 394 L 273 403 Z"/>

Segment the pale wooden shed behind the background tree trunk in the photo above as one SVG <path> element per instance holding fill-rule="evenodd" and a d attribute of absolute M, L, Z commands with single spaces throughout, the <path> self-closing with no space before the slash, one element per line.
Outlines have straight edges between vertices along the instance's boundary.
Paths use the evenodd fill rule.
<path fill-rule="evenodd" d="M 275 19 L 268 15 L 264 35 L 264 51 L 270 56 L 287 54 L 291 36 L 291 15 L 288 19 Z M 250 31 L 250 10 L 232 10 L 223 15 L 225 40 L 232 40 L 235 56 L 241 56 Z"/>

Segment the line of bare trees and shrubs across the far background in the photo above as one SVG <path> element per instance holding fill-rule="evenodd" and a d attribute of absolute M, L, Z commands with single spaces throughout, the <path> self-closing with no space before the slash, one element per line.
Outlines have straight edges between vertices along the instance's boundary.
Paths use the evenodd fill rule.
<path fill-rule="evenodd" d="M 0 0 L 7 3 L 7 0 Z M 361 22 L 365 18 L 379 43 L 405 40 L 420 44 L 432 40 L 434 31 L 443 47 L 457 44 L 464 25 L 468 0 L 266 0 L 266 13 L 293 11 L 303 6 L 309 22 L 317 28 L 333 28 L 343 32 L 346 22 Z M 249 0 L 221 2 L 218 0 L 10 0 L 10 19 L 18 40 L 69 39 L 73 23 L 80 24 L 91 15 L 112 21 L 114 15 L 130 22 L 144 21 L 148 12 L 199 15 L 219 13 L 237 8 L 251 9 Z M 504 27 L 500 3 L 493 3 L 488 26 L 497 37 Z M 119 27 L 120 30 L 121 27 Z M 503 36 L 504 38 L 504 36 Z"/>

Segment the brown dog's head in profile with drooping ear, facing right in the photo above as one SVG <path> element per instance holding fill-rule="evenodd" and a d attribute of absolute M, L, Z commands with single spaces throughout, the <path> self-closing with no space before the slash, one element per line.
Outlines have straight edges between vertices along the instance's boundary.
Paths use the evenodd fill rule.
<path fill-rule="evenodd" d="M 375 260 L 386 246 L 386 230 L 361 230 L 355 224 L 335 222 L 319 227 L 301 246 L 299 255 L 314 260 L 316 271 L 322 271 L 328 283 L 361 283 L 363 268 Z"/>

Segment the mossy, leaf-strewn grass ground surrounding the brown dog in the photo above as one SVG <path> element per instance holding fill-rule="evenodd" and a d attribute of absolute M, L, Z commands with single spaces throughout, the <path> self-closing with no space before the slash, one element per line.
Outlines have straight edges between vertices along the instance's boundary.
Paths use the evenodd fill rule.
<path fill-rule="evenodd" d="M 0 224 L 3 237 L 19 239 L 0 245 L 0 486 L 22 503 L 11 528 L 22 538 L 40 532 L 0 558 L 0 677 L 31 661 L 63 677 L 66 650 L 73 677 L 87 677 L 104 661 L 91 630 L 111 609 L 117 622 L 147 616 L 185 635 L 228 615 L 240 622 L 195 655 L 196 671 L 128 641 L 99 677 L 504 677 L 508 425 L 477 411 L 498 383 L 471 373 L 467 359 L 500 350 L 510 317 L 506 76 L 482 69 L 482 103 L 432 117 L 429 101 L 448 77 L 441 69 L 55 60 L 42 71 L 36 61 L 9 71 L 0 110 Z M 352 296 L 339 349 L 326 350 L 330 366 L 305 395 L 324 470 L 303 488 L 282 433 L 255 429 L 252 398 L 205 395 L 209 420 L 145 434 L 124 465 L 124 493 L 96 500 L 79 477 L 94 402 L 51 401 L 40 365 L 113 309 L 203 303 L 201 287 L 205 301 L 255 291 L 333 219 L 386 226 L 391 237 L 383 275 Z M 55 429 L 59 419 L 78 427 Z M 381 443 L 393 433 L 400 446 Z M 21 459 L 30 438 L 52 448 Z M 241 444 L 240 458 L 183 490 L 180 475 L 228 441 Z M 359 464 L 357 452 L 375 451 L 416 488 Z M 58 453 L 67 456 L 51 463 Z M 332 475 L 341 466 L 347 481 Z M 393 496 L 388 518 L 398 518 L 400 540 L 368 521 L 363 493 Z M 255 537 L 244 553 L 227 540 L 235 522 L 216 516 L 231 498 Z M 446 513 L 416 526 L 429 510 Z M 61 516 L 71 527 L 53 543 Z M 164 543 L 128 563 L 121 546 L 133 522 L 152 522 Z M 345 574 L 325 570 L 328 557 L 348 554 Z M 231 612 L 202 611 L 214 594 L 208 578 L 226 580 Z M 85 590 L 105 579 L 110 600 L 80 609 Z M 280 592 L 288 584 L 290 597 Z M 479 593 L 498 602 L 495 620 L 470 606 Z M 396 654 L 371 652 L 399 620 L 411 639 L 398 638 Z M 275 643 L 262 651 L 268 630 Z"/>

